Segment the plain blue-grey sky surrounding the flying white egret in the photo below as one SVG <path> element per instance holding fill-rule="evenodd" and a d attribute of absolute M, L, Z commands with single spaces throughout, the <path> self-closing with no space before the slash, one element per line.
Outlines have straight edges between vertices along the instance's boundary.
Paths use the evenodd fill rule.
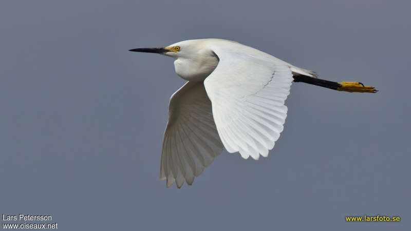
<path fill-rule="evenodd" d="M 409 1 L 1 1 L 0 214 L 59 230 L 407 230 Z M 193 186 L 158 181 L 170 57 L 226 38 L 331 81 L 295 83 L 268 158 L 224 151 Z M 347 215 L 401 216 L 348 223 Z"/>

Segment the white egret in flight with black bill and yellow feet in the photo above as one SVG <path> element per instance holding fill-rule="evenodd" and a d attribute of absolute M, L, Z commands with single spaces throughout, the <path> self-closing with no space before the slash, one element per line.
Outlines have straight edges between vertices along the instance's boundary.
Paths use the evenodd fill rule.
<path fill-rule="evenodd" d="M 267 157 L 283 131 L 284 101 L 291 82 L 338 91 L 377 92 L 360 82 L 317 78 L 276 57 L 237 42 L 187 40 L 161 48 L 129 51 L 174 57 L 177 75 L 187 82 L 170 99 L 160 163 L 160 180 L 191 185 L 222 148 L 244 159 Z"/>

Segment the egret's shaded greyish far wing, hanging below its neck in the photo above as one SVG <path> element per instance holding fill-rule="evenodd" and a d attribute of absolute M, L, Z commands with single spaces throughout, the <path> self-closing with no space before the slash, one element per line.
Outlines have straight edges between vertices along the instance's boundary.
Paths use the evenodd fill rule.
<path fill-rule="evenodd" d="M 176 91 L 169 105 L 161 151 L 160 180 L 167 187 L 184 180 L 191 185 L 194 177 L 220 155 L 222 144 L 211 112 L 211 102 L 202 82 L 187 82 Z"/>

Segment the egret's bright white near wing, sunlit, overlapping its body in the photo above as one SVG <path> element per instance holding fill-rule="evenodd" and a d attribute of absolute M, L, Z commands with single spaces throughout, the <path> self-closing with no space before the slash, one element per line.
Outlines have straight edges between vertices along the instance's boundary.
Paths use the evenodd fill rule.
<path fill-rule="evenodd" d="M 212 50 L 219 63 L 204 86 L 224 147 L 245 159 L 267 157 L 287 117 L 290 66 L 241 44 L 215 45 Z"/>

